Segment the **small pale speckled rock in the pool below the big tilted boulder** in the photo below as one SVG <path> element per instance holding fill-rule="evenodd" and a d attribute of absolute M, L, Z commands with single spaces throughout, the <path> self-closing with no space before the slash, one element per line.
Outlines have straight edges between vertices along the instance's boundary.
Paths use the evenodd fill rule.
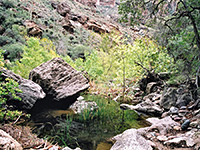
<path fill-rule="evenodd" d="M 75 114 L 81 114 L 84 110 L 95 111 L 98 109 L 98 106 L 95 102 L 77 100 L 70 106 L 70 109 L 72 109 Z"/>

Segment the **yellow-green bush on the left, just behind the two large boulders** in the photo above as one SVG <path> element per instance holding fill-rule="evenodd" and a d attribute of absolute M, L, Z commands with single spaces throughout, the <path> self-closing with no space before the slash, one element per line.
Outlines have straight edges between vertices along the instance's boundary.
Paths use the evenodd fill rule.
<path fill-rule="evenodd" d="M 24 47 L 22 58 L 14 63 L 11 69 L 24 78 L 28 78 L 29 72 L 40 64 L 58 57 L 53 43 L 48 39 L 29 38 Z"/>

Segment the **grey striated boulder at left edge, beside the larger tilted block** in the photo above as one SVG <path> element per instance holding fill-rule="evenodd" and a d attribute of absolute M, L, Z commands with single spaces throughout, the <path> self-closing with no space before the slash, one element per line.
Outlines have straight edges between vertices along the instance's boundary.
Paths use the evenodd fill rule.
<path fill-rule="evenodd" d="M 42 88 L 34 83 L 31 80 L 23 79 L 19 75 L 16 75 L 12 71 L 1 69 L 2 74 L 0 77 L 5 80 L 5 78 L 11 78 L 14 81 L 18 82 L 19 89 L 22 90 L 22 93 L 17 93 L 22 100 L 15 101 L 11 100 L 10 103 L 14 104 L 18 109 L 31 109 L 34 104 L 45 97 L 45 93 Z"/>

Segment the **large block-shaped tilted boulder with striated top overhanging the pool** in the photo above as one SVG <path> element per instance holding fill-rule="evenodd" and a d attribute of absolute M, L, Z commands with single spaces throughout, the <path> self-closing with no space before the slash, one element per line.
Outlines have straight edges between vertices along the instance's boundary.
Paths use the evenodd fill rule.
<path fill-rule="evenodd" d="M 43 88 L 48 102 L 54 101 L 55 105 L 59 101 L 65 102 L 64 108 L 75 102 L 80 92 L 89 88 L 88 80 L 61 58 L 36 67 L 29 78 Z"/>

